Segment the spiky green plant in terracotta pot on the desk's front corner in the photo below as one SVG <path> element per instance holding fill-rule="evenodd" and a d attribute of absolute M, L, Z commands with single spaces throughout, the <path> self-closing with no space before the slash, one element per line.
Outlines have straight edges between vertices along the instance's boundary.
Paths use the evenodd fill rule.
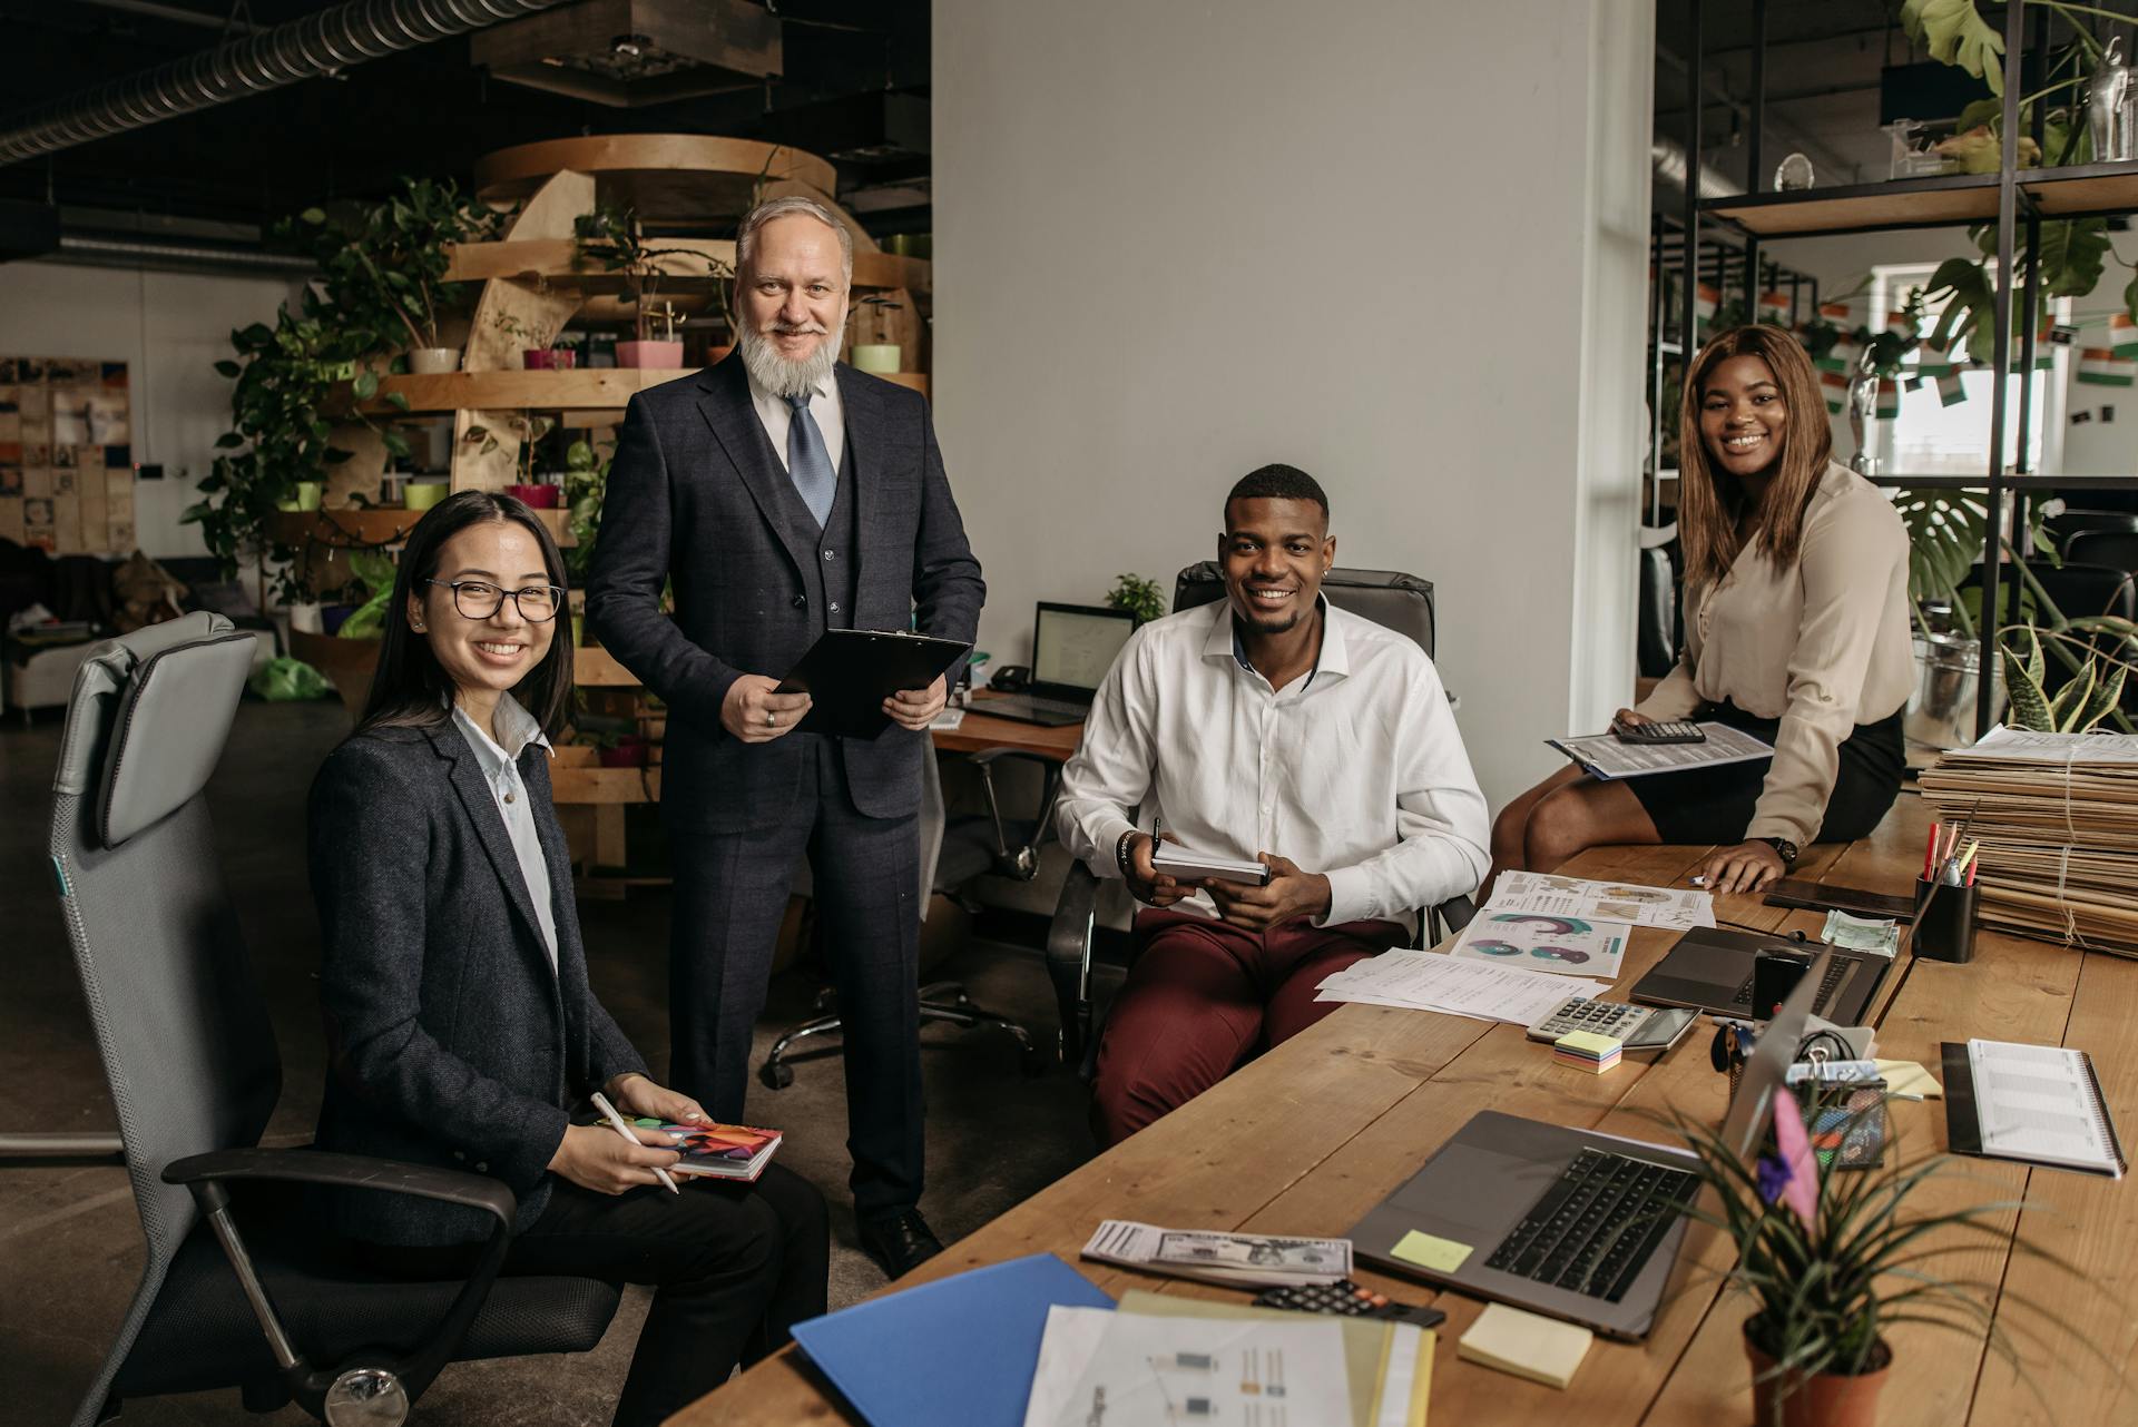
<path fill-rule="evenodd" d="M 1884 1107 L 1869 1113 L 1884 1115 Z M 1745 1354 L 1755 1427 L 1875 1423 L 1892 1365 L 1886 1329 L 1903 1322 L 1986 1335 L 1993 1352 L 2018 1365 L 2008 1331 L 2012 1314 L 1997 1312 L 1999 1284 L 1943 1277 L 1935 1269 L 1948 1254 L 1965 1256 L 1984 1239 L 2005 1239 L 1999 1220 L 2018 1205 L 1924 1211 L 1911 1203 L 1924 1183 L 1967 1173 L 1963 1162 L 1943 1154 L 1901 1162 L 1888 1145 L 1888 1162 L 1879 1166 L 1822 1173 L 1790 1089 L 1775 1092 L 1775 1130 L 1751 1164 L 1721 1130 L 1683 1115 L 1672 1115 L 1672 1124 L 1693 1151 L 1700 1179 L 1700 1194 L 1685 1211 L 1730 1235 L 1738 1258 L 1725 1282 L 1753 1305 Z M 1843 1126 L 1843 1141 L 1854 1124 L 1852 1117 Z M 2012 1252 L 2076 1275 L 2070 1263 L 2018 1237 Z M 2010 1307 L 2033 1305 L 2010 1301 Z"/>

